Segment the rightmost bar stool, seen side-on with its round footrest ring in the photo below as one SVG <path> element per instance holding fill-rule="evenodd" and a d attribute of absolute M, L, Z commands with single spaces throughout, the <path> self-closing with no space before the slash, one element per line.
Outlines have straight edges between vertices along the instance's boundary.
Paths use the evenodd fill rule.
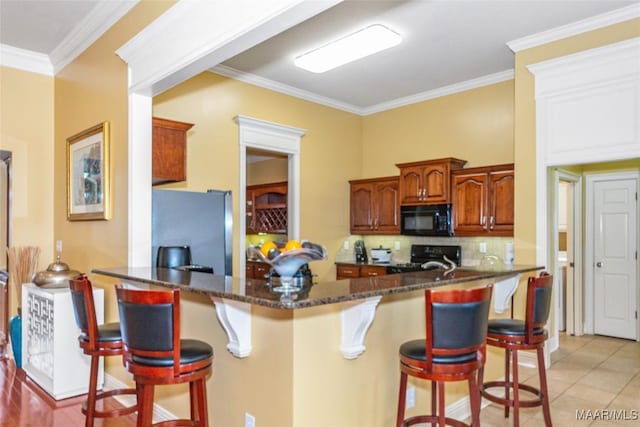
<path fill-rule="evenodd" d="M 551 295 L 553 292 L 553 276 L 546 272 L 540 277 L 530 277 L 527 283 L 527 305 L 525 320 L 491 319 L 487 333 L 487 344 L 505 349 L 504 381 L 483 383 L 484 370 L 480 370 L 478 382 L 480 393 L 488 400 L 504 406 L 504 416 L 509 417 L 509 408 L 513 407 L 513 425 L 520 425 L 520 407 L 541 406 L 544 423 L 551 427 L 551 411 L 549 410 L 549 393 L 547 391 L 547 375 L 544 365 L 544 343 L 548 338 L 545 325 L 549 319 Z M 540 388 L 518 381 L 518 350 L 536 350 L 538 356 L 538 375 Z M 511 369 L 510 369 L 511 365 Z M 512 372 L 511 372 L 512 371 Z M 512 377 L 510 375 L 513 375 Z M 512 379 L 510 379 L 512 378 Z M 487 391 L 490 388 L 504 388 L 504 397 Z M 513 398 L 510 391 L 513 389 Z M 535 394 L 534 399 L 520 398 L 520 392 Z"/>

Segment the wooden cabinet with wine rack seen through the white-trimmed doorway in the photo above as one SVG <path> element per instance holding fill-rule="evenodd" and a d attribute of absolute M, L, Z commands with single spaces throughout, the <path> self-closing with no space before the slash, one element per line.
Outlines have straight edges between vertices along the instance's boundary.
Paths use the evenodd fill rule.
<path fill-rule="evenodd" d="M 247 234 L 287 233 L 287 182 L 247 187 Z"/>

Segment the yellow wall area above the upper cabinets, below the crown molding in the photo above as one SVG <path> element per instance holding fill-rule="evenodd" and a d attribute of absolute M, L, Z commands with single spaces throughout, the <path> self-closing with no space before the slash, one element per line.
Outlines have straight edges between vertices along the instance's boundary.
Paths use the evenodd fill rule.
<path fill-rule="evenodd" d="M 363 117 L 363 175 L 396 163 L 456 157 L 467 167 L 513 162 L 513 80 Z"/>

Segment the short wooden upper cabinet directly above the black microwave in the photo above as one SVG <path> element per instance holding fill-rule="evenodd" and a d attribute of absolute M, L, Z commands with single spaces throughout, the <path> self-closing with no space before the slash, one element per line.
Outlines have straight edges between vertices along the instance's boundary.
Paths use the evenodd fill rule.
<path fill-rule="evenodd" d="M 400 168 L 400 204 L 450 203 L 451 172 L 465 163 L 465 160 L 449 157 L 396 164 Z"/>

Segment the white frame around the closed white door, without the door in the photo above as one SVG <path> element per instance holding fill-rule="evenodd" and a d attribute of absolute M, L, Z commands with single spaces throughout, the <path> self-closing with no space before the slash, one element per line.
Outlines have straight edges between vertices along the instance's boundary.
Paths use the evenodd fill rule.
<path fill-rule="evenodd" d="M 594 205 L 594 187 L 596 182 L 615 181 L 622 179 L 635 179 L 636 191 L 640 188 L 640 171 L 626 171 L 613 173 L 590 173 L 585 174 L 586 191 L 585 191 L 585 257 L 584 257 L 584 331 L 587 334 L 593 334 L 595 330 L 594 313 L 594 243 L 595 243 L 595 218 L 593 211 Z M 640 201 L 636 193 L 636 218 L 640 217 Z M 636 233 L 636 251 L 640 238 L 640 233 Z M 636 311 L 640 310 L 640 263 L 636 256 Z M 640 319 L 636 316 L 636 341 L 640 341 Z"/>

